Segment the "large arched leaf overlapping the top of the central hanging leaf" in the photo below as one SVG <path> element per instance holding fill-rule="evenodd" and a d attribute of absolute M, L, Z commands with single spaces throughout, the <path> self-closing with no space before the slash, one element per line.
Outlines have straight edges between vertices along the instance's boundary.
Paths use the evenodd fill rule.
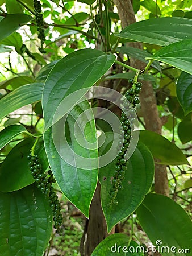
<path fill-rule="evenodd" d="M 80 98 L 108 71 L 115 61 L 114 55 L 107 55 L 96 49 L 82 49 L 70 53 L 58 61 L 47 80 L 43 89 L 43 112 L 45 130 L 53 121 L 57 107 L 69 94 L 82 88 L 83 94 Z M 69 109 L 76 104 L 79 98 L 74 98 Z"/>

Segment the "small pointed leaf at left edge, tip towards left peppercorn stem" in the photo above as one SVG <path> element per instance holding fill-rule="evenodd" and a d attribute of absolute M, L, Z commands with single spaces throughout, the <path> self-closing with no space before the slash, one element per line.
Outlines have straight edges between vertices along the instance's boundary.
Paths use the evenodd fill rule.
<path fill-rule="evenodd" d="M 17 135 L 26 131 L 26 128 L 21 125 L 10 125 L 0 132 L 0 150 L 6 146 Z"/>

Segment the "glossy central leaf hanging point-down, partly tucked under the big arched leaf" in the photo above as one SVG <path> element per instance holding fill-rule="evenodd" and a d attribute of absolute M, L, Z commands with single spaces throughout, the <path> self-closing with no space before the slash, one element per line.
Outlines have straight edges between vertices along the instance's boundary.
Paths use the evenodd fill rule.
<path fill-rule="evenodd" d="M 89 102 L 82 102 L 68 115 L 67 125 L 65 119 L 60 119 L 52 129 L 49 128 L 44 133 L 45 150 L 57 184 L 64 195 L 86 217 L 89 217 L 89 207 L 98 178 L 98 150 L 97 147 L 95 150 L 90 150 L 88 145 L 88 142 L 95 143 L 94 117 L 91 115 L 91 121 L 89 121 L 86 115 L 82 114 L 89 109 Z M 77 127 L 74 132 L 77 118 L 79 118 L 80 127 Z M 66 141 L 62 137 L 63 132 L 65 132 Z M 83 142 L 84 146 L 80 146 L 77 139 L 78 142 Z M 68 144 L 69 147 L 67 147 Z M 85 169 L 83 164 L 88 168 Z"/>

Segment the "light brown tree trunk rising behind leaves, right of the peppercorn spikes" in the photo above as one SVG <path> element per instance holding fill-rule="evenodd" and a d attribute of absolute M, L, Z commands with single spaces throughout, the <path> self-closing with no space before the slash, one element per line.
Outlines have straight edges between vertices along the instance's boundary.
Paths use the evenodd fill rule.
<path fill-rule="evenodd" d="M 123 28 L 136 22 L 131 0 L 114 0 L 114 3 L 118 9 Z M 131 43 L 129 45 L 142 49 L 141 43 Z M 139 60 L 131 59 L 131 66 L 143 70 L 145 64 Z M 162 122 L 158 115 L 153 86 L 149 81 L 143 82 L 143 90 L 140 93 L 140 102 L 146 129 L 161 134 Z M 169 196 L 166 166 L 162 166 L 161 164 L 155 164 L 155 192 Z"/>

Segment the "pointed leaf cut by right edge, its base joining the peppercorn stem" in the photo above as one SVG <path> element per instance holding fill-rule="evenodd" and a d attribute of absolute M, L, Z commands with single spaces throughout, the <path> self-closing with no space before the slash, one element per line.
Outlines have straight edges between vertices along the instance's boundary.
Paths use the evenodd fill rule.
<path fill-rule="evenodd" d="M 161 61 L 192 75 L 192 40 L 188 39 L 170 44 L 146 59 Z"/>

